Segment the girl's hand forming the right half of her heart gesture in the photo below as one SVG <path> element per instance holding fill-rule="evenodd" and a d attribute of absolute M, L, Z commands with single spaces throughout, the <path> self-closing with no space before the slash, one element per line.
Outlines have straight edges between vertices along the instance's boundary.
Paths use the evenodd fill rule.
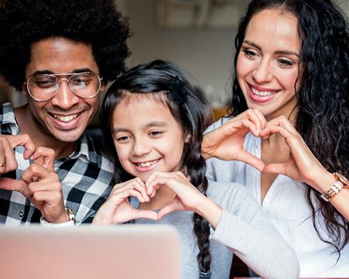
<path fill-rule="evenodd" d="M 149 197 L 154 197 L 156 190 L 163 186 L 176 194 L 172 202 L 158 212 L 158 220 L 173 211 L 193 211 L 216 227 L 221 218 L 221 207 L 202 195 L 182 172 L 154 172 L 145 184 Z"/>

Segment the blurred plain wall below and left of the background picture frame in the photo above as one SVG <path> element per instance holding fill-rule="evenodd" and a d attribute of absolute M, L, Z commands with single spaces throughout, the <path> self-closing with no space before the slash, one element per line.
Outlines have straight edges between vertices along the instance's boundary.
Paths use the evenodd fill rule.
<path fill-rule="evenodd" d="M 124 13 L 134 32 L 128 40 L 133 53 L 128 66 L 165 59 L 184 68 L 204 89 L 225 91 L 232 72 L 234 29 L 161 29 L 156 27 L 154 0 L 125 0 Z"/>

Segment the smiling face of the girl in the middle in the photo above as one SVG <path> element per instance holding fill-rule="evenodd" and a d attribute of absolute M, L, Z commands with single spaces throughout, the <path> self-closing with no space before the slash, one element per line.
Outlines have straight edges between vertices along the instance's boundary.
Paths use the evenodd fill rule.
<path fill-rule="evenodd" d="M 161 93 L 159 93 L 161 94 Z M 184 140 L 168 107 L 142 93 L 130 96 L 112 116 L 115 148 L 122 167 L 143 181 L 154 170 L 179 170 Z"/>

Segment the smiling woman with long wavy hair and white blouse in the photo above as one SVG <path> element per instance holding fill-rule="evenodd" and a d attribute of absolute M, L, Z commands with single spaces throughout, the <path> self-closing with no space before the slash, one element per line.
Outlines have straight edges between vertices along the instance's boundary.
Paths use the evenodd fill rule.
<path fill-rule="evenodd" d="M 348 45 L 330 0 L 251 1 L 235 38 L 230 116 L 202 145 L 209 179 L 251 190 L 301 277 L 349 274 Z"/>

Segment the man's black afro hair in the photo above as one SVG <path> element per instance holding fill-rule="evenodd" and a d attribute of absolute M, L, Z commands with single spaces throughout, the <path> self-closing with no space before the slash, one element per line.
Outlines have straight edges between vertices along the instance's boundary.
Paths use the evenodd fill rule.
<path fill-rule="evenodd" d="M 129 36 L 114 0 L 1 0 L 1 75 L 21 91 L 31 43 L 57 37 L 90 43 L 103 80 L 115 80 L 130 55 Z"/>

